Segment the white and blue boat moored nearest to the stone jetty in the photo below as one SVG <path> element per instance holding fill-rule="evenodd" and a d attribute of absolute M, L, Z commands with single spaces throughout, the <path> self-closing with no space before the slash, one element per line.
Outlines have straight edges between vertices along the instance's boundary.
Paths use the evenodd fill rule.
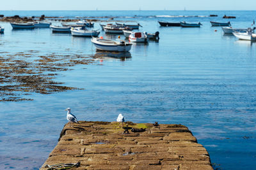
<path fill-rule="evenodd" d="M 93 45 L 97 50 L 111 51 L 111 52 L 129 52 L 131 50 L 132 44 L 126 43 L 125 41 L 113 41 L 110 39 L 103 38 L 92 38 Z"/>

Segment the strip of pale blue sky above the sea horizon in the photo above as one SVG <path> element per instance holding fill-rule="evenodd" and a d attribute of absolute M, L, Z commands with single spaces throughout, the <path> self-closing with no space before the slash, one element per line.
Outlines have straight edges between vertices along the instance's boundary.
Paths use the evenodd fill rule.
<path fill-rule="evenodd" d="M 0 10 L 255 10 L 256 0 L 1 0 Z"/>

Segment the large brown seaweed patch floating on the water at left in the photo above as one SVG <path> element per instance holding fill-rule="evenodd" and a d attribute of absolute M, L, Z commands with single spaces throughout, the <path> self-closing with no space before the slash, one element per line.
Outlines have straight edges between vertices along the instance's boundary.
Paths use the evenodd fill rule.
<path fill-rule="evenodd" d="M 54 81 L 58 71 L 68 71 L 78 64 L 92 64 L 90 56 L 49 53 L 36 55 L 38 51 L 0 54 L 0 101 L 33 101 L 24 97 L 33 93 L 52 94 L 67 90 L 81 90 L 67 87 Z M 49 73 L 50 72 L 50 73 Z"/>

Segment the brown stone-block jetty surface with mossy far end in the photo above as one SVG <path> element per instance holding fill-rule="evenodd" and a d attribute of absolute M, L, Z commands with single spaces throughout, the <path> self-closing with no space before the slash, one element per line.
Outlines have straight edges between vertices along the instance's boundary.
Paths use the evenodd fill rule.
<path fill-rule="evenodd" d="M 135 132 L 124 134 L 127 126 Z M 80 166 L 72 169 L 212 170 L 207 150 L 188 127 L 176 124 L 68 123 L 41 169 L 77 162 Z"/>

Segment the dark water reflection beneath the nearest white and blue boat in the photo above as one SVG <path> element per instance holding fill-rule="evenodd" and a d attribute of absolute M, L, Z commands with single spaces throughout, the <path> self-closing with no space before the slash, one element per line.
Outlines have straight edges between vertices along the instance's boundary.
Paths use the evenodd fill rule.
<path fill-rule="evenodd" d="M 130 52 L 105 52 L 97 50 L 96 53 L 93 55 L 93 59 L 120 59 L 120 60 L 127 60 L 131 59 Z"/>

